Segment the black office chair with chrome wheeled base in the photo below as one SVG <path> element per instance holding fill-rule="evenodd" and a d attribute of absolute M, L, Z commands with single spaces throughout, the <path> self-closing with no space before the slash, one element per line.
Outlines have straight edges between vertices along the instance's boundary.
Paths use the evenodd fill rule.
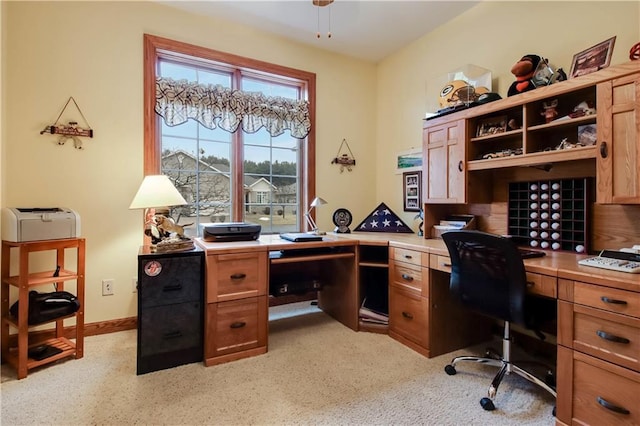
<path fill-rule="evenodd" d="M 495 410 L 493 398 L 505 374 L 522 376 L 556 397 L 550 372 L 545 382 L 511 362 L 510 323 L 540 335 L 538 325 L 556 315 L 555 300 L 527 297 L 524 263 L 517 246 L 507 238 L 480 231 L 449 231 L 442 234 L 442 239 L 451 256 L 450 292 L 467 308 L 504 321 L 501 356 L 492 351 L 487 351 L 485 357 L 459 356 L 444 371 L 456 374 L 455 366 L 460 361 L 498 367 L 488 398 L 480 400 L 487 411 Z"/>

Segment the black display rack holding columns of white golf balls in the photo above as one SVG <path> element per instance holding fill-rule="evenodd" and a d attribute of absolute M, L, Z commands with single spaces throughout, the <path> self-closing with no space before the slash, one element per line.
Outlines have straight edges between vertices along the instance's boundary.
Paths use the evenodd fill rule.
<path fill-rule="evenodd" d="M 586 253 L 592 180 L 509 184 L 509 234 L 520 245 Z"/>

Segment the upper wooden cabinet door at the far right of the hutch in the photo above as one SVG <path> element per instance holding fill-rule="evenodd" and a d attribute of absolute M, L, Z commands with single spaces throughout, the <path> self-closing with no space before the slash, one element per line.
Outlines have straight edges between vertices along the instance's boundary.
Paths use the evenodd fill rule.
<path fill-rule="evenodd" d="M 600 204 L 640 204 L 640 74 L 597 87 Z"/>

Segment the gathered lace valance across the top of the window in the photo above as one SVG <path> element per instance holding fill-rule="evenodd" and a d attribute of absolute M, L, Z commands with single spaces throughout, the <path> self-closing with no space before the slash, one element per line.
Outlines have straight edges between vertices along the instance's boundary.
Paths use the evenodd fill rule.
<path fill-rule="evenodd" d="M 275 137 L 288 129 L 299 139 L 311 129 L 307 101 L 165 77 L 156 79 L 155 110 L 169 126 L 191 118 L 208 129 L 220 127 L 228 132 L 235 132 L 240 125 L 247 133 L 264 127 Z"/>

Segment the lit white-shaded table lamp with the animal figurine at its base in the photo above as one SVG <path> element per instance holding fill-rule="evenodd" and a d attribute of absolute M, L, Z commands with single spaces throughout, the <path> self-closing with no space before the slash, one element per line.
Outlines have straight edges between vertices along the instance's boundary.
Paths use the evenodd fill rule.
<path fill-rule="evenodd" d="M 149 175 L 138 188 L 129 209 L 144 209 L 145 235 L 151 237 L 152 252 L 184 251 L 194 248 L 193 240 L 173 219 L 156 214 L 156 208 L 182 206 L 186 200 L 166 175 Z M 174 234 L 174 235 L 172 235 Z"/>

